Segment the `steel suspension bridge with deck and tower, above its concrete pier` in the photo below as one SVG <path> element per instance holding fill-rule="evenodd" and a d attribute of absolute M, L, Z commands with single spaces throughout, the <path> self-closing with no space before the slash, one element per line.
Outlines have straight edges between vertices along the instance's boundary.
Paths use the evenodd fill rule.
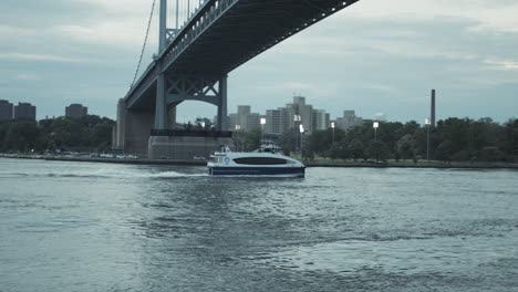
<path fill-rule="evenodd" d="M 225 131 L 229 72 L 356 1 L 200 0 L 179 27 L 176 0 L 176 28 L 168 28 L 168 3 L 160 0 L 159 53 L 120 106 L 149 113 L 152 127 L 166 129 L 179 103 L 207 102 L 218 107 Z"/>

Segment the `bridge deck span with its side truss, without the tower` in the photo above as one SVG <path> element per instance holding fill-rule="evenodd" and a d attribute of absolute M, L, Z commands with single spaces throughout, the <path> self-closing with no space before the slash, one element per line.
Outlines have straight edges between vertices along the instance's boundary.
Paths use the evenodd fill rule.
<path fill-rule="evenodd" d="M 356 1 L 207 0 L 149 64 L 124 102 L 128 109 L 153 112 L 160 72 L 193 75 L 206 81 L 201 87 L 210 86 L 253 56 Z"/>

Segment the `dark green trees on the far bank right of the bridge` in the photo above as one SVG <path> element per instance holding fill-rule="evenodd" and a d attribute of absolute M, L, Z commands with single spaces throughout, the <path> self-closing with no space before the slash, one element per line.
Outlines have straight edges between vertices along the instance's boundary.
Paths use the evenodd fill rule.
<path fill-rule="evenodd" d="M 235 139 L 238 148 L 251 150 L 260 144 L 260 129 Z M 348 131 L 328 128 L 311 135 L 292 131 L 283 134 L 279 144 L 284 153 L 299 150 L 302 157 L 352 160 L 441 160 L 452 161 L 518 161 L 518 119 L 504 124 L 491 118 L 447 118 L 435 127 L 408 123 L 380 122 Z"/>

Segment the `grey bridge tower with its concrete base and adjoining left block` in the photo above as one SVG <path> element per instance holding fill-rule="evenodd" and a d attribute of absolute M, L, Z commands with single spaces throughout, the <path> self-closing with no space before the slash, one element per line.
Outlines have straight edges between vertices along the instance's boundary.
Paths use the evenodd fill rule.
<path fill-rule="evenodd" d="M 130 109 L 124 100 L 118 103 L 116 147 L 125 152 L 147 152 L 152 159 L 193 159 L 194 156 L 209 156 L 220 145 L 231 145 L 227 131 L 227 74 L 201 76 L 189 72 L 166 71 L 165 51 L 180 31 L 179 0 L 174 0 L 174 28 L 167 27 L 168 1 L 159 2 L 158 53 L 156 96 L 154 108 Z M 200 4 L 205 1 L 200 1 Z M 188 2 L 189 3 L 189 2 Z M 184 8 L 185 9 L 185 8 Z M 190 11 L 187 10 L 188 20 Z M 215 82 L 215 80 L 217 80 Z M 217 132 L 186 132 L 177 128 L 176 107 L 184 101 L 206 102 L 217 106 Z"/>

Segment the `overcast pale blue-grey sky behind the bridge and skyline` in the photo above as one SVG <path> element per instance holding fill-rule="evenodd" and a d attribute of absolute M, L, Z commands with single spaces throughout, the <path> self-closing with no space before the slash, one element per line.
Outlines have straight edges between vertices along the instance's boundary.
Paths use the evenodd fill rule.
<path fill-rule="evenodd" d="M 0 100 L 30 102 L 39 118 L 71 103 L 114 118 L 152 2 L 0 1 Z M 231 72 L 229 113 L 239 104 L 265 113 L 298 93 L 332 118 L 355 109 L 422 123 L 436 88 L 438 118 L 518 117 L 517 15 L 516 0 L 361 0 Z M 178 122 L 216 112 L 187 102 Z"/>

